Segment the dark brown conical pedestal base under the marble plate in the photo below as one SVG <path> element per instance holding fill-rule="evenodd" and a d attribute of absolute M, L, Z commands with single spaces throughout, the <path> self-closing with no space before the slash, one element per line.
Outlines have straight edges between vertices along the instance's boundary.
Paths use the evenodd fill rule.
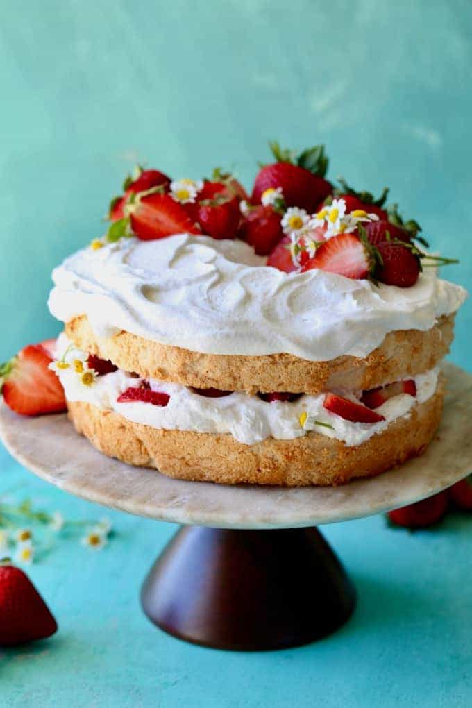
<path fill-rule="evenodd" d="M 165 632 L 218 649 L 308 644 L 344 624 L 355 589 L 316 528 L 181 528 L 144 581 Z"/>

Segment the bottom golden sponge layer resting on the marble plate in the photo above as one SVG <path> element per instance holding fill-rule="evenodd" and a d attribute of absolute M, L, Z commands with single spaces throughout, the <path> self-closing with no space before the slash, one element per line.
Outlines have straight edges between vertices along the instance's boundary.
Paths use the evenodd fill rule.
<path fill-rule="evenodd" d="M 154 467 L 167 476 L 219 484 L 333 486 L 380 474 L 420 455 L 439 426 L 442 401 L 439 382 L 436 393 L 417 404 L 410 416 L 355 447 L 319 433 L 243 445 L 228 434 L 156 430 L 82 401 L 69 401 L 68 406 L 76 430 L 105 455 Z"/>

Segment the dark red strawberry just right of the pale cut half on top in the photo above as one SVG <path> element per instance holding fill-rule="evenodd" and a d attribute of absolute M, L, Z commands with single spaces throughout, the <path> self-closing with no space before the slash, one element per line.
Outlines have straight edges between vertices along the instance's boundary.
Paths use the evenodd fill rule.
<path fill-rule="evenodd" d="M 388 221 L 369 222 L 364 227 L 367 239 L 381 256 L 381 263 L 376 265 L 375 277 L 386 285 L 415 285 L 421 266 L 420 259 L 411 251 L 408 232 Z"/>

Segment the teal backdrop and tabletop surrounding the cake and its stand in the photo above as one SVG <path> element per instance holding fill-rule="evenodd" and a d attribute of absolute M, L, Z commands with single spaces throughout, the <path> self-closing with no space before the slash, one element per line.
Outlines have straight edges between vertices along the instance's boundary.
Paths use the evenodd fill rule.
<path fill-rule="evenodd" d="M 145 161 L 247 185 L 265 142 L 326 143 L 330 176 L 379 191 L 472 284 L 472 5 L 467 0 L 2 0 L 0 360 L 59 330 L 53 266 L 99 235 L 124 173 Z M 472 304 L 452 351 L 472 370 Z M 0 484 L 50 506 L 1 452 Z M 0 487 L 1 491 L 1 487 Z M 471 524 L 410 536 L 381 518 L 329 527 L 360 591 L 355 619 L 320 644 L 241 655 L 154 631 L 137 586 L 171 525 L 114 515 L 98 556 L 64 542 L 30 574 L 61 632 L 0 654 L 3 706 L 469 706 Z M 80 549 L 80 552 L 82 549 Z"/>

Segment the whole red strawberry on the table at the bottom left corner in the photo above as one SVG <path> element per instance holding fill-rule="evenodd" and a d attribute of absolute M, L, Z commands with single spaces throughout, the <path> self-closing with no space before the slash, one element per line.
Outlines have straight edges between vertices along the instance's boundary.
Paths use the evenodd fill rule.
<path fill-rule="evenodd" d="M 0 646 L 46 639 L 56 631 L 56 620 L 25 573 L 0 565 Z"/>

